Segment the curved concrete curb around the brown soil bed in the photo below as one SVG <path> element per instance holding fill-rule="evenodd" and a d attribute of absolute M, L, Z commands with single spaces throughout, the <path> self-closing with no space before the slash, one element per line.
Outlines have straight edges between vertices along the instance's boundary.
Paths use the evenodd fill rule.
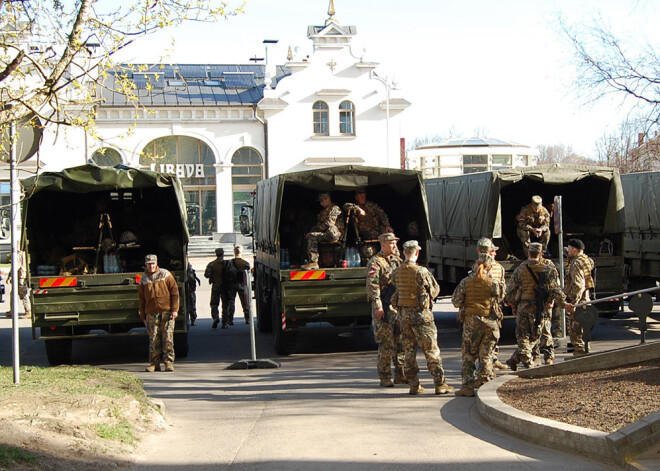
<path fill-rule="evenodd" d="M 637 353 L 631 351 L 631 349 L 640 349 L 640 347 L 641 350 Z M 592 358 L 590 358 L 591 356 L 580 357 L 579 359 L 565 362 L 564 364 L 573 363 L 568 368 L 571 371 L 565 371 L 565 368 L 561 368 L 562 364 L 557 364 L 526 370 L 521 372 L 519 376 L 554 376 L 609 368 L 614 363 L 618 363 L 618 361 L 621 361 L 621 363 L 614 366 L 631 363 L 631 357 L 634 358 L 632 362 L 644 361 L 646 359 L 657 358 L 659 356 L 656 353 L 658 347 L 660 347 L 660 342 L 617 349 L 593 355 Z M 658 351 L 660 352 L 660 350 Z M 655 354 L 655 356 L 645 358 L 651 354 Z M 594 358 L 597 356 L 602 357 L 600 359 Z M 554 368 L 556 366 L 560 368 Z M 580 368 L 575 370 L 577 367 Z M 542 372 L 540 370 L 545 371 Z M 588 458 L 625 466 L 628 469 L 645 469 L 643 461 L 635 463 L 632 460 L 654 447 L 657 448 L 660 444 L 660 411 L 654 412 L 610 434 L 564 424 L 528 414 L 502 402 L 497 395 L 497 388 L 515 377 L 516 375 L 511 374 L 500 376 L 486 383 L 477 391 L 477 410 L 483 420 L 511 435 L 538 445 L 579 453 Z"/>

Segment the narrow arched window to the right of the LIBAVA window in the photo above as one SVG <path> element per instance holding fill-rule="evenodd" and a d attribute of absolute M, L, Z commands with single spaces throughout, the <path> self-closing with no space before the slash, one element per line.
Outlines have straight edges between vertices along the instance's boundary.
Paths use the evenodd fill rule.
<path fill-rule="evenodd" d="M 241 207 L 252 204 L 252 191 L 257 188 L 257 182 L 264 178 L 264 166 L 261 154 L 252 147 L 241 147 L 234 152 L 231 163 L 234 230 L 240 231 L 238 217 Z"/>

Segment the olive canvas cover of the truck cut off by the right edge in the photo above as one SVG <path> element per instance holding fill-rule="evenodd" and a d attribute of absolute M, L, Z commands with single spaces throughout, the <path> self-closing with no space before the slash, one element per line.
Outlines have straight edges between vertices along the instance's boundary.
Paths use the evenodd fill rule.
<path fill-rule="evenodd" d="M 660 233 L 660 172 L 621 175 L 626 233 Z"/>

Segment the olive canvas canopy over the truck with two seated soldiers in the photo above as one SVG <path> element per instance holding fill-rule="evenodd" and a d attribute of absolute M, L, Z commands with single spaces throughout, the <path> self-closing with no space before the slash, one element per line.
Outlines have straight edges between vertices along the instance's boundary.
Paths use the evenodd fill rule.
<path fill-rule="evenodd" d="M 412 191 L 419 192 L 419 197 L 426 208 L 421 173 L 414 170 L 400 170 L 381 167 L 366 167 L 360 165 L 344 165 L 338 167 L 306 170 L 303 172 L 283 173 L 257 184 L 256 205 L 268 210 L 260 210 L 255 220 L 255 237 L 257 242 L 277 239 L 277 229 L 286 184 L 294 184 L 315 191 L 351 191 L 361 187 L 386 185 L 392 189 L 392 197 L 408 195 Z M 419 224 L 422 224 L 420 221 Z M 430 234 L 428 215 L 424 214 L 424 231 Z M 422 228 L 420 227 L 420 230 Z"/>

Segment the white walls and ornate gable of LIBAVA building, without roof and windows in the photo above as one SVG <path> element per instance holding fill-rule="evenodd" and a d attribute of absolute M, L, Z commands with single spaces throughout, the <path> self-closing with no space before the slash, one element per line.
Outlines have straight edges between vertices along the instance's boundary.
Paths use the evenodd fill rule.
<path fill-rule="evenodd" d="M 118 154 L 121 163 L 128 166 L 148 168 L 140 157 L 147 144 L 167 137 L 176 136 L 176 142 L 182 137 L 193 138 L 204 144 L 205 152 L 210 149 L 214 172 L 206 174 L 204 187 L 187 187 L 184 182 L 184 192 L 193 199 L 195 192 L 201 195 L 195 200 L 199 214 L 214 211 L 209 232 L 232 234 L 236 230 L 236 209 L 249 195 L 246 185 L 237 190 L 240 175 L 233 175 L 232 158 L 242 149 L 260 158 L 261 177 L 346 164 L 400 168 L 400 136 L 390 130 L 400 128 L 400 112 L 410 104 L 375 76 L 376 63 L 352 55 L 350 43 L 355 28 L 339 25 L 333 15 L 331 8 L 324 26 L 308 28 L 314 44 L 309 57 L 300 60 L 290 56 L 278 68 L 280 75 L 273 81 L 274 88 L 268 86 L 266 76 L 263 98 L 257 83 L 252 90 L 259 97 L 253 102 L 191 101 L 177 106 L 152 100 L 143 103 L 145 110 L 136 111 L 130 104 L 106 100 L 97 110 L 95 136 L 80 129 L 46 133 L 40 151 L 42 170 L 83 165 L 100 149 Z M 165 83 L 167 86 L 168 80 Z M 318 129 L 314 126 L 313 107 L 317 102 L 327 105 L 327 135 L 315 132 Z M 346 102 L 353 110 L 352 118 L 348 116 L 352 119 L 348 129 L 346 113 L 342 115 L 343 127 L 340 125 L 339 107 L 350 106 Z M 188 145 L 192 141 L 185 142 Z M 164 166 L 163 170 L 185 173 L 183 168 Z M 214 201 L 204 199 L 209 194 Z M 200 233 L 209 233 L 204 232 L 207 226 L 202 222 L 200 227 Z"/>

